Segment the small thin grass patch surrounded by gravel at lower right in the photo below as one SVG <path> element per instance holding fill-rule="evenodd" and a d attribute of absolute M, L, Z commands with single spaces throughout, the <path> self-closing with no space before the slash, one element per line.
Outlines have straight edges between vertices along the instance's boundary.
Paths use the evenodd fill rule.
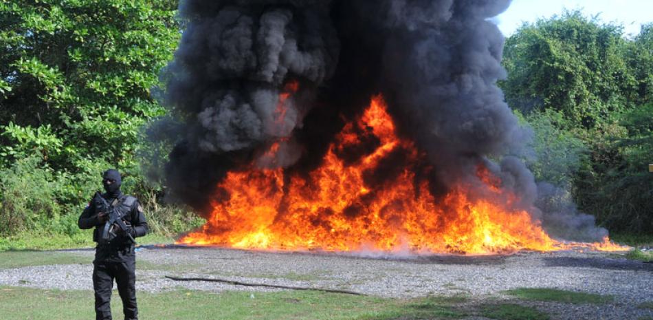
<path fill-rule="evenodd" d="M 557 301 L 565 303 L 595 303 L 604 304 L 612 301 L 610 295 L 595 295 L 593 293 L 574 292 L 550 288 L 517 288 L 505 291 L 507 295 L 520 299 L 537 301 Z"/>

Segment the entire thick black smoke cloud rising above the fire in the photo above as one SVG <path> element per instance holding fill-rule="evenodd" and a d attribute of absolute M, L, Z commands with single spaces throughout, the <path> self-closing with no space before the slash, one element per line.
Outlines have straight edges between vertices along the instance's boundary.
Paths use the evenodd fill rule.
<path fill-rule="evenodd" d="M 516 205 L 561 235 L 577 230 L 575 213 L 535 208 L 533 175 L 507 156 L 528 138 L 496 86 L 505 76 L 503 36 L 488 19 L 507 6 L 509 0 L 182 1 L 186 30 L 164 74 L 164 103 L 184 128 L 167 167 L 170 191 L 201 211 L 228 170 L 255 163 L 308 172 L 344 122 L 381 93 L 400 133 L 435 168 L 427 177 L 434 195 L 478 179 L 485 164 L 520 195 Z M 280 94 L 293 83 L 298 91 L 280 111 Z M 267 159 L 262 153 L 273 143 L 279 151 Z M 587 239 L 602 235 L 581 220 Z"/>

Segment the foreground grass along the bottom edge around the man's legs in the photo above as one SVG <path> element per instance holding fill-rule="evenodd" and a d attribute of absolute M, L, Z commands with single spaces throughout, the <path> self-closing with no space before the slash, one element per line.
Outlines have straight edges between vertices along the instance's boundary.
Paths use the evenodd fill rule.
<path fill-rule="evenodd" d="M 253 298 L 252 298 L 253 295 Z M 323 292 L 138 292 L 140 319 L 457 319 L 464 314 L 436 297 L 384 299 Z M 21 308 L 16 308 L 21 306 Z M 122 319 L 118 293 L 113 317 Z M 0 287 L 0 319 L 82 320 L 93 318 L 93 295 L 82 290 Z"/>

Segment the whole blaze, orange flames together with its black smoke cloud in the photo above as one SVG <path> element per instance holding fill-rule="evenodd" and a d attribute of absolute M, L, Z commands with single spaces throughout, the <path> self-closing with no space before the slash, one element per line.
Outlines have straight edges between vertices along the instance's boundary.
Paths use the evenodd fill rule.
<path fill-rule="evenodd" d="M 524 129 L 496 87 L 502 37 L 486 21 L 507 4 L 183 2 L 166 103 L 184 140 L 167 179 L 208 222 L 179 242 L 618 249 L 589 215 L 540 211 L 533 175 L 510 155 Z"/>

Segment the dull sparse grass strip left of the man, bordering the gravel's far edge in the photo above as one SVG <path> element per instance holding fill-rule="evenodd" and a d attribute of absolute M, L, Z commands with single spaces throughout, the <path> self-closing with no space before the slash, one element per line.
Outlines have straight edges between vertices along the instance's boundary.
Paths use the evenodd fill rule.
<path fill-rule="evenodd" d="M 0 252 L 0 269 L 49 264 L 91 264 L 93 257 L 52 251 L 4 251 Z"/>

